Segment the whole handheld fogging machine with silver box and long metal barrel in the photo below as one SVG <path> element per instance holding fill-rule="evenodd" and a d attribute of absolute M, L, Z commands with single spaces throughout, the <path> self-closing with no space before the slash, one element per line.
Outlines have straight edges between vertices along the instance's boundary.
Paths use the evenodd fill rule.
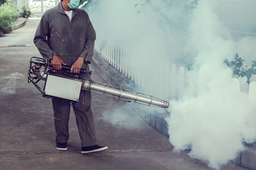
<path fill-rule="evenodd" d="M 78 102 L 81 90 L 88 90 L 148 106 L 162 108 L 169 106 L 169 102 L 150 95 L 82 78 L 83 74 L 92 74 L 92 72 L 81 69 L 79 74 L 73 74 L 70 68 L 62 65 L 62 70 L 54 70 L 50 60 L 32 57 L 29 63 L 28 83 L 33 83 L 43 97 L 70 100 L 70 102 Z M 43 89 L 38 85 L 39 81 L 45 81 Z"/>

